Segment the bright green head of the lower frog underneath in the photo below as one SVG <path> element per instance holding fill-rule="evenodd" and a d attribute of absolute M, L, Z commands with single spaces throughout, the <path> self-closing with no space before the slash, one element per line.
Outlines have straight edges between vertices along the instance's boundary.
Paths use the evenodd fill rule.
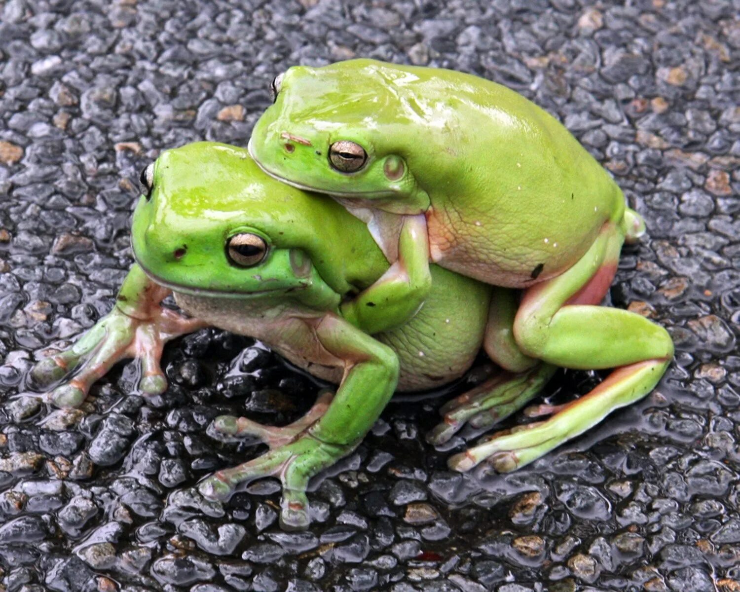
<path fill-rule="evenodd" d="M 326 286 L 297 246 L 314 248 L 303 228 L 315 198 L 264 175 L 246 150 L 210 142 L 167 150 L 141 184 L 132 246 L 157 283 L 240 298 Z"/>

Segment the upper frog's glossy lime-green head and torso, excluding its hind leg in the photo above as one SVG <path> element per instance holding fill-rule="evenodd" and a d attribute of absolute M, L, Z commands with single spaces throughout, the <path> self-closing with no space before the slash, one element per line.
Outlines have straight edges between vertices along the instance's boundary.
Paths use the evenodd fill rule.
<path fill-rule="evenodd" d="M 622 239 L 644 231 L 570 132 L 500 84 L 369 59 L 292 67 L 277 84 L 250 153 L 275 178 L 332 195 L 369 223 L 384 252 L 400 260 L 401 279 L 386 296 L 406 303 L 399 324 L 428 290 L 430 258 L 496 286 L 525 288 L 570 269 L 606 224 Z M 335 169 L 329 152 L 337 141 L 363 147 L 366 164 Z M 398 244 L 404 232 L 417 237 L 405 248 Z M 347 303 L 346 317 L 371 322 L 363 317 L 374 311 L 363 304 L 377 287 Z"/>

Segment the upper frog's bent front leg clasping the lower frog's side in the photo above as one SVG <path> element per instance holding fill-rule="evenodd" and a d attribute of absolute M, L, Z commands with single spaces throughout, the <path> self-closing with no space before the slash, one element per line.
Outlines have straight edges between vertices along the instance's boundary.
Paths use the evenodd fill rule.
<path fill-rule="evenodd" d="M 426 219 L 423 214 L 405 216 L 398 259 L 372 286 L 342 304 L 342 316 L 369 334 L 390 331 L 417 313 L 430 289 Z"/>

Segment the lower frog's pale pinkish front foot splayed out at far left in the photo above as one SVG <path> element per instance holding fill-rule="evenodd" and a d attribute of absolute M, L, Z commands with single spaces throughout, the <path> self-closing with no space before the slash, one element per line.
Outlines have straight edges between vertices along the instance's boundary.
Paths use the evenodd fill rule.
<path fill-rule="evenodd" d="M 78 407 L 95 380 L 118 361 L 133 357 L 141 360 L 143 366 L 141 392 L 163 393 L 167 383 L 159 363 L 164 343 L 206 326 L 201 320 L 161 306 L 168 294 L 168 289 L 150 280 L 135 264 L 118 292 L 112 311 L 70 349 L 36 364 L 31 377 L 44 386 L 77 370 L 72 380 L 55 388 L 47 398 L 58 407 Z M 83 361 L 85 356 L 89 357 Z"/>

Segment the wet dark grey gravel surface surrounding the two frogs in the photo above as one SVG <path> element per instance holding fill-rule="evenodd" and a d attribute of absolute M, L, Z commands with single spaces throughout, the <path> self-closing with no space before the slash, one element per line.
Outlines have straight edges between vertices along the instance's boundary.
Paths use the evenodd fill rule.
<path fill-rule="evenodd" d="M 629 4 L 4 2 L 2 585 L 739 590 L 740 7 Z M 172 343 L 153 403 L 128 395 L 130 364 L 85 414 L 16 395 L 39 351 L 110 310 L 141 168 L 189 141 L 246 145 L 277 73 L 354 56 L 482 75 L 563 121 L 645 215 L 610 298 L 667 327 L 676 361 L 641 403 L 505 476 L 447 471 L 451 452 L 423 440 L 443 398 L 404 397 L 309 494 L 310 530 L 284 533 L 275 482 L 223 506 L 192 490 L 263 451 L 212 440 L 213 417 L 282 424 L 313 403 L 315 384 L 252 340 Z M 597 379 L 560 372 L 546 394 Z"/>

